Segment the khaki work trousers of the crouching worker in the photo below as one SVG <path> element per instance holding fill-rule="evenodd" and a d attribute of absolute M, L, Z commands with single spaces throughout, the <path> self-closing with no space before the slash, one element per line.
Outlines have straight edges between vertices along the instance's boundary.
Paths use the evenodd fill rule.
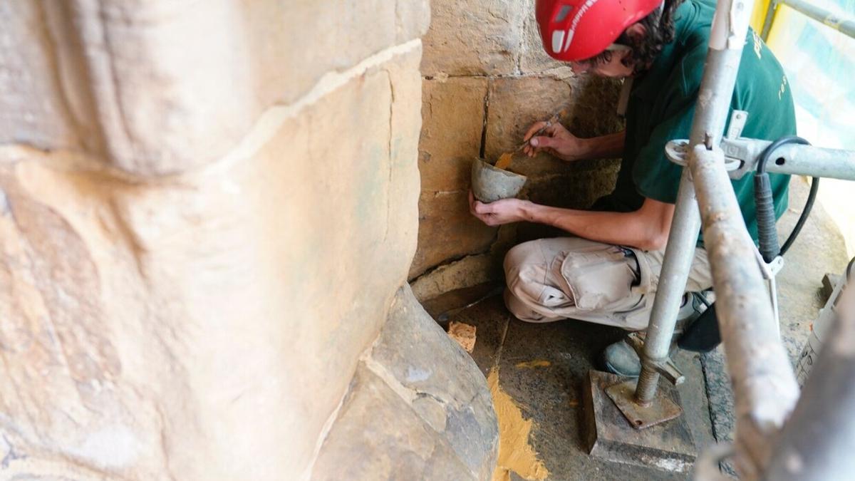
<path fill-rule="evenodd" d="M 504 302 L 517 318 L 546 323 L 573 318 L 626 330 L 646 329 L 664 251 L 642 251 L 579 237 L 515 246 L 504 258 Z M 710 263 L 695 249 L 686 290 L 712 287 Z"/>

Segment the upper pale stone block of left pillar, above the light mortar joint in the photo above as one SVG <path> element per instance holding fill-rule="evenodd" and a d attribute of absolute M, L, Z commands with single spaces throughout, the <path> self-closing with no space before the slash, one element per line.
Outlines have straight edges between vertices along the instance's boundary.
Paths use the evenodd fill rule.
<path fill-rule="evenodd" d="M 0 13 L 10 28 L 0 106 L 17 112 L 3 121 L 13 128 L 0 129 L 0 142 L 84 145 L 144 176 L 212 162 L 269 105 L 416 39 L 429 21 L 424 0 L 220 0 L 205 9 L 189 0 L 71 0 L 9 3 Z"/>

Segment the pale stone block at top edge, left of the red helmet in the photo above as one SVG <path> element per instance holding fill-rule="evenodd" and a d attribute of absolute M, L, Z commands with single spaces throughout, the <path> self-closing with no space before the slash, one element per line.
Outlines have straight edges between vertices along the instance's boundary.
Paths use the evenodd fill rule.
<path fill-rule="evenodd" d="M 422 74 L 516 73 L 524 12 L 514 0 L 433 0 Z"/>

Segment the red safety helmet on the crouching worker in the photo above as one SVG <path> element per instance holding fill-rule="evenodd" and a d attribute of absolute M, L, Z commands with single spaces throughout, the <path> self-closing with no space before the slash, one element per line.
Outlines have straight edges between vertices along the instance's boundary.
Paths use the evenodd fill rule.
<path fill-rule="evenodd" d="M 578 62 L 609 48 L 663 0 L 536 0 L 534 15 L 551 57 Z"/>

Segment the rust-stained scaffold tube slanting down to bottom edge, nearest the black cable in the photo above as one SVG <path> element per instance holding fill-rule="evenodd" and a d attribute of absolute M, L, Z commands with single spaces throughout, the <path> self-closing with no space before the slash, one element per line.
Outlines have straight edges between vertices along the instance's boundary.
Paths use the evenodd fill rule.
<path fill-rule="evenodd" d="M 743 479 L 753 479 L 769 460 L 768 436 L 787 419 L 799 386 L 778 337 L 754 243 L 740 215 L 722 151 L 699 145 L 690 166 L 734 389 L 735 462 Z"/>

